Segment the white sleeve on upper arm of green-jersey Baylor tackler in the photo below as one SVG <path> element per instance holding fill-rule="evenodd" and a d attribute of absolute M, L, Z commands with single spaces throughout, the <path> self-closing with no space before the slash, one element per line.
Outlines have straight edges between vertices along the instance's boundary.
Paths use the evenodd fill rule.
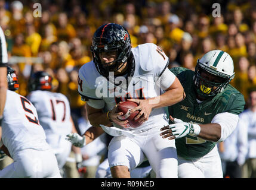
<path fill-rule="evenodd" d="M 220 124 L 221 126 L 221 137 L 218 140 L 218 143 L 226 140 L 230 134 L 235 130 L 236 125 L 238 124 L 239 117 L 233 113 L 218 113 L 212 119 L 212 124 Z"/>

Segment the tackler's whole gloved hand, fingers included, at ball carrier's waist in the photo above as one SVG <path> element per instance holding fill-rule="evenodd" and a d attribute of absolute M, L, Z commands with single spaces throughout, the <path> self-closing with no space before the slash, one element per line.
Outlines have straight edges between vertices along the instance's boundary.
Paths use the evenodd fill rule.
<path fill-rule="evenodd" d="M 167 125 L 160 129 L 164 131 L 160 134 L 163 138 L 173 140 L 175 138 L 186 137 L 188 134 L 198 135 L 200 132 L 200 126 L 197 124 L 183 122 L 181 119 L 172 118 L 172 116 L 169 118 L 175 124 Z"/>

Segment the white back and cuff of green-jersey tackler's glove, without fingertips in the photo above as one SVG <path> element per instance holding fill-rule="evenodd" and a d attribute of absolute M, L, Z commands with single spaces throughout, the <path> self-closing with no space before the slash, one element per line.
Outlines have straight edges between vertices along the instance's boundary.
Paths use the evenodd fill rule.
<path fill-rule="evenodd" d="M 176 124 L 169 125 L 171 133 L 175 138 L 182 138 L 188 134 L 199 135 L 201 128 L 198 124 L 190 124 L 186 122 L 178 122 Z"/>

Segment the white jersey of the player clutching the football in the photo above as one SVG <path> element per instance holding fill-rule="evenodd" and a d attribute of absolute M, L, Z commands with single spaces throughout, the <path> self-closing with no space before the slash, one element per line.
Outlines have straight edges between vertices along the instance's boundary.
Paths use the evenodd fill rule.
<path fill-rule="evenodd" d="M 169 58 L 161 47 L 153 43 L 145 43 L 132 48 L 132 54 L 135 66 L 128 80 L 124 77 L 115 77 L 115 81 L 113 77 L 110 77 L 109 81 L 106 80 L 98 73 L 93 61 L 84 64 L 79 69 L 78 92 L 82 98 L 92 100 L 87 102 L 89 106 L 107 111 L 112 110 L 117 103 L 127 98 L 149 99 L 161 95 L 162 89 L 158 84 L 158 79 L 167 68 Z M 171 73 L 168 80 L 171 85 L 175 80 L 175 75 Z M 162 126 L 163 120 L 166 122 L 164 108 L 153 109 L 149 119 L 135 129 Z M 121 128 L 116 124 L 113 125 Z"/>

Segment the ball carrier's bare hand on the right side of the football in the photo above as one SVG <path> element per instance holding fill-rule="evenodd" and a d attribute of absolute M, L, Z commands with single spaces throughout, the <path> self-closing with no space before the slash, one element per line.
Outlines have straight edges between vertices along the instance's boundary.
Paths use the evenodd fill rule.
<path fill-rule="evenodd" d="M 152 112 L 152 106 L 153 105 L 149 103 L 148 99 L 144 99 L 144 100 L 128 99 L 128 101 L 136 102 L 138 104 L 137 107 L 135 107 L 134 109 L 131 110 L 131 113 L 135 112 L 136 110 L 140 110 L 138 115 L 134 118 L 135 120 L 140 118 L 138 120 L 138 122 L 143 124 L 145 121 L 147 121 L 147 119 L 149 119 L 149 115 Z"/>

